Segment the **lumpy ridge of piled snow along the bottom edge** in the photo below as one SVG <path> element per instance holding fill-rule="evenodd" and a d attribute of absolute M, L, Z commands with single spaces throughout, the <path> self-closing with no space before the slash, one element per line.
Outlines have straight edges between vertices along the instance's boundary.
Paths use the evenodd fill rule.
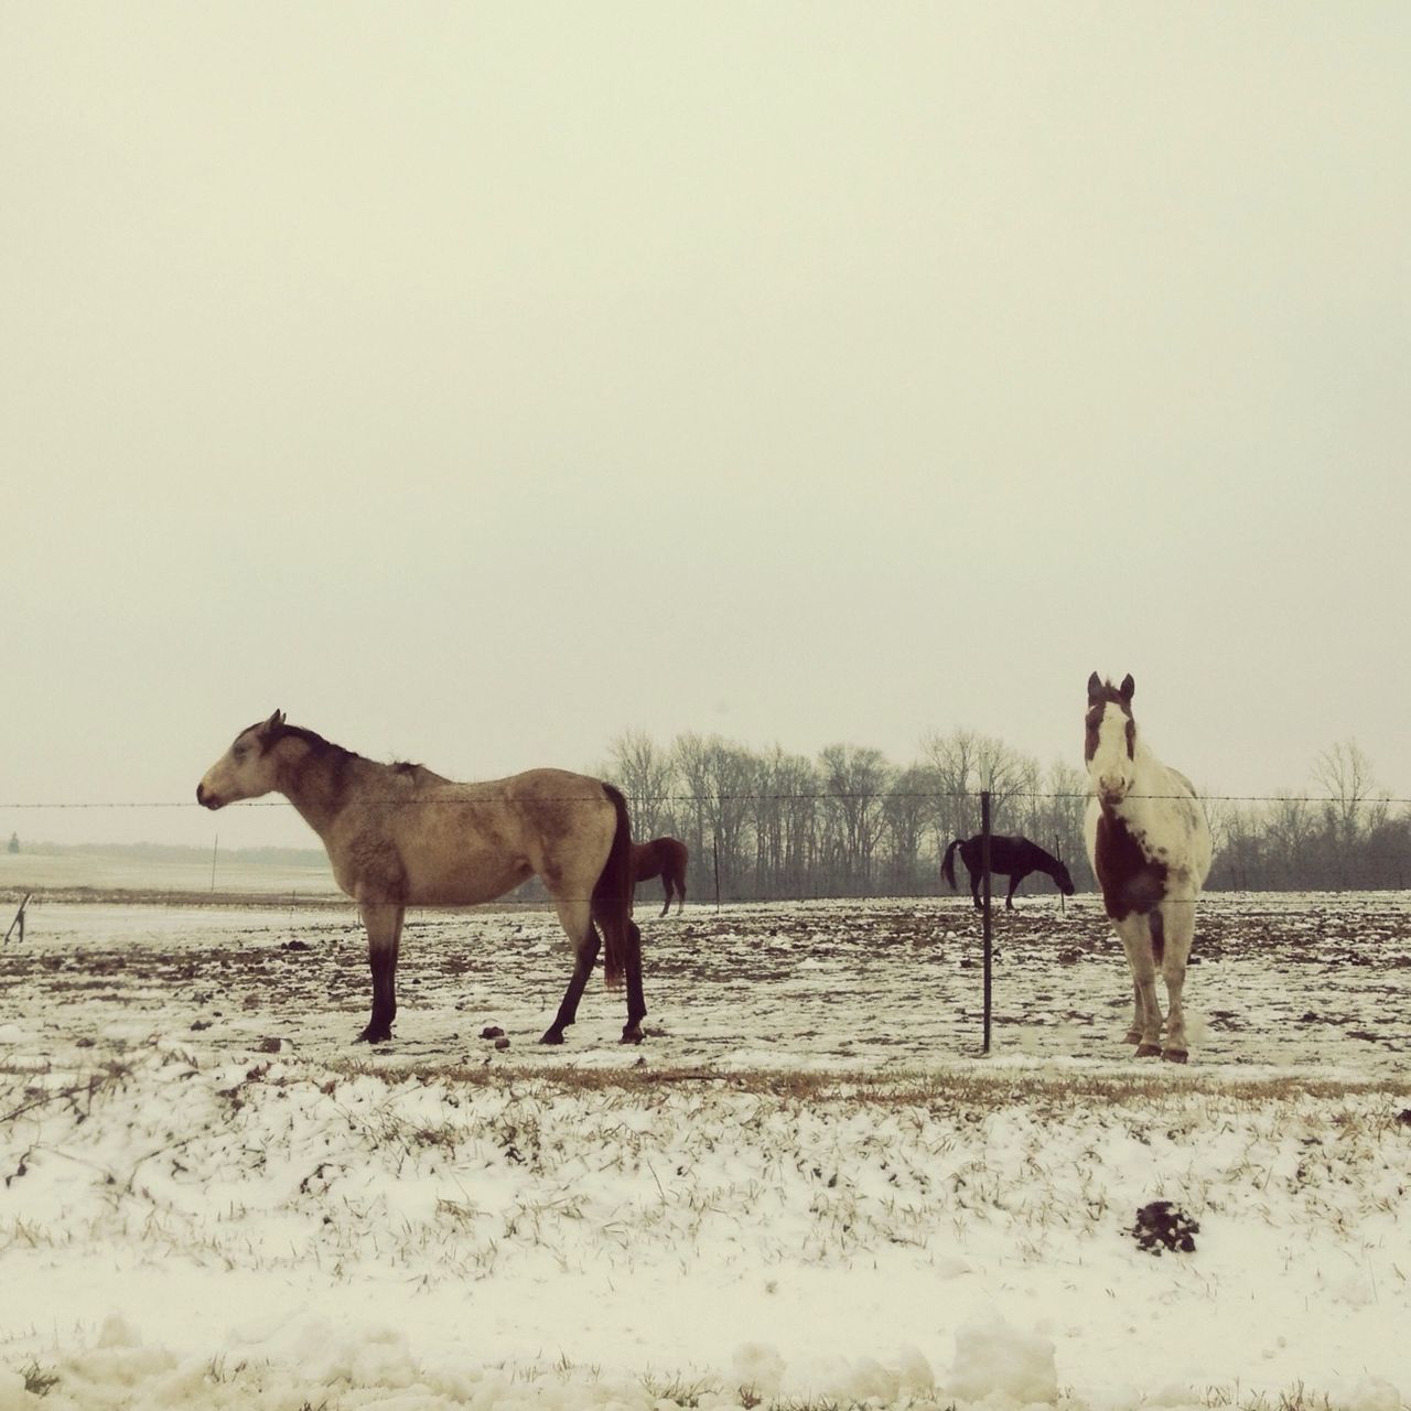
<path fill-rule="evenodd" d="M 93 1346 L 68 1353 L 42 1369 L 40 1393 L 25 1388 L 25 1374 L 0 1367 L 0 1411 L 703 1411 L 789 1407 L 810 1403 L 909 1408 L 1061 1405 L 1062 1411 L 1205 1411 L 1187 1388 L 1156 1398 L 1089 1404 L 1058 1394 L 1054 1345 L 991 1314 L 957 1329 L 950 1383 L 937 1387 L 926 1357 L 903 1348 L 886 1362 L 872 1357 L 825 1357 L 786 1366 L 772 1343 L 739 1345 L 728 1371 L 713 1374 L 602 1373 L 563 1363 L 476 1366 L 471 1362 L 419 1360 L 405 1335 L 392 1328 L 339 1331 L 310 1316 L 265 1336 L 251 1329 L 227 1339 L 213 1356 L 178 1356 L 147 1348 L 119 1315 L 106 1321 Z M 804 1390 L 807 1388 L 807 1390 Z M 1301 1388 L 1300 1388 L 1301 1390 Z M 1314 1398 L 1308 1398 L 1309 1401 Z M 1321 1398 L 1316 1398 L 1321 1400 Z M 1363 1379 L 1328 1393 L 1331 1411 L 1400 1411 L 1401 1397 L 1383 1379 Z"/>

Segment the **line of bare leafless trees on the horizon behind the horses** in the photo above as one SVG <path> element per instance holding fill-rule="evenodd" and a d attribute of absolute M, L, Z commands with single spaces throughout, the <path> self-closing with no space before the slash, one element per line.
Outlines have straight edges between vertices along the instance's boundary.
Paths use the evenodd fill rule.
<path fill-rule="evenodd" d="M 722 900 L 947 890 L 941 855 L 979 832 L 982 790 L 995 832 L 1023 834 L 1067 862 L 1081 890 L 1094 886 L 1082 842 L 1086 773 L 1064 761 L 1044 768 L 972 729 L 927 735 L 904 766 L 859 745 L 810 758 L 720 735 L 662 745 L 629 731 L 612 741 L 601 773 L 626 796 L 636 838 L 686 844 L 694 900 L 714 897 L 717 879 Z M 1215 838 L 1208 886 L 1411 885 L 1411 817 L 1394 814 L 1357 745 L 1321 755 L 1314 783 L 1316 793 L 1274 800 L 1205 799 Z"/>

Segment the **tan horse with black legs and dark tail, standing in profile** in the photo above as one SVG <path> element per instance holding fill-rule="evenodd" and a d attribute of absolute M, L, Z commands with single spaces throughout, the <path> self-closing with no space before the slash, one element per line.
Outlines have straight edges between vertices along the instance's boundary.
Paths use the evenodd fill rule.
<path fill-rule="evenodd" d="M 392 1037 L 408 906 L 476 906 L 539 876 L 576 957 L 540 1043 L 563 1043 L 600 945 L 608 988 L 626 979 L 622 1043 L 641 1041 L 646 1005 L 642 938 L 632 921 L 631 831 L 626 803 L 612 785 L 562 769 L 453 783 L 420 765 L 364 759 L 312 729 L 286 725 L 275 711 L 236 737 L 206 770 L 196 801 L 223 809 L 274 792 L 323 840 L 333 876 L 361 909 L 373 1017 L 360 1038 Z"/>

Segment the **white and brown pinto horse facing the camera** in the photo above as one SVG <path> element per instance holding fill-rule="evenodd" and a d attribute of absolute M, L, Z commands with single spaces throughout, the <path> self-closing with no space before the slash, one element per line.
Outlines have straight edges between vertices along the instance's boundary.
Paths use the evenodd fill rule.
<path fill-rule="evenodd" d="M 1127 1043 L 1137 1057 L 1185 1062 L 1181 988 L 1195 934 L 1195 900 L 1211 871 L 1211 830 L 1195 787 L 1147 749 L 1132 715 L 1136 683 L 1088 679 L 1084 756 L 1092 794 L 1085 838 L 1113 930 L 1127 952 L 1136 1012 Z M 1156 971 L 1168 1013 L 1161 1043 Z"/>

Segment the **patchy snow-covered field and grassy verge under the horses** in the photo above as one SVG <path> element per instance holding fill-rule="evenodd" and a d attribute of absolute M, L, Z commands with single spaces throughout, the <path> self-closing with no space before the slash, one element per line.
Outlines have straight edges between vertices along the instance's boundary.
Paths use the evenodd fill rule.
<path fill-rule="evenodd" d="M 1411 1397 L 1411 897 L 1208 899 L 1178 1070 L 1091 897 L 998 917 L 981 1058 L 968 902 L 650 892 L 641 1048 L 535 1043 L 539 913 L 415 916 L 370 1053 L 350 909 L 34 906 L 0 1411 Z"/>

